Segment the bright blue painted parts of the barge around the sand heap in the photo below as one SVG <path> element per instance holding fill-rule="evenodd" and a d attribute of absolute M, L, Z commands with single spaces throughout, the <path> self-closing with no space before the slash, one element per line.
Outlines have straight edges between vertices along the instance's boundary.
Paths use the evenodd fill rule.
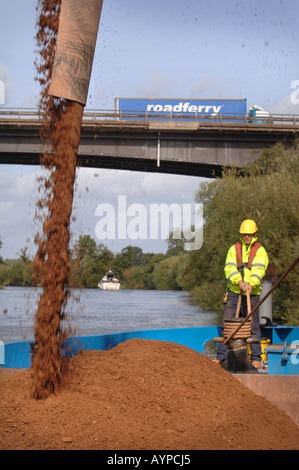
<path fill-rule="evenodd" d="M 220 336 L 221 326 L 192 328 L 170 328 L 159 330 L 124 331 L 95 336 L 70 337 L 65 344 L 67 355 L 76 355 L 82 350 L 107 350 L 132 338 L 170 341 L 206 354 L 206 345 Z M 267 353 L 268 375 L 299 375 L 299 327 L 262 327 L 262 337 L 269 340 Z M 20 341 L 2 345 L 1 367 L 27 369 L 31 366 L 30 344 Z"/>

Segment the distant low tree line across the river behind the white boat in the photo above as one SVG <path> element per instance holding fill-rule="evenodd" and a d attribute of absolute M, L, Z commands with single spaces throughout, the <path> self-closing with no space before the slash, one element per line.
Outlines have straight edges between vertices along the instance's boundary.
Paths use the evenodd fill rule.
<path fill-rule="evenodd" d="M 1 248 L 0 241 L 0 248 Z M 127 289 L 180 289 L 181 287 L 166 273 L 162 261 L 182 252 L 181 243 L 176 244 L 170 236 L 169 249 L 163 253 L 144 253 L 138 246 L 127 246 L 114 254 L 103 243 L 97 244 L 90 235 L 82 235 L 75 241 L 69 252 L 71 288 L 97 287 L 101 278 L 112 269 Z M 176 246 L 178 245 L 178 246 Z M 0 257 L 0 285 L 36 286 L 33 276 L 33 261 L 27 254 L 28 248 L 21 249 L 16 259 L 3 260 Z M 168 263 L 166 263 L 168 264 Z M 169 269 L 168 269 L 169 271 Z"/>

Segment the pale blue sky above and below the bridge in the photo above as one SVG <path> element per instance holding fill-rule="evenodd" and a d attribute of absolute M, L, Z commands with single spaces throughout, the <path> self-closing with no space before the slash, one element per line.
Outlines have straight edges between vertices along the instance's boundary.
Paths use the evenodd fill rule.
<path fill-rule="evenodd" d="M 35 0 L 1 2 L 0 80 L 6 107 L 38 103 L 35 5 Z M 290 99 L 291 83 L 299 80 L 298 17 L 298 0 L 104 0 L 86 108 L 113 109 L 118 96 L 246 98 L 248 107 L 299 114 Z M 36 170 L 0 166 L 3 257 L 14 257 L 25 245 L 34 251 Z M 81 169 L 74 233 L 94 237 L 95 207 L 107 194 L 109 201 L 126 194 L 132 202 L 171 197 L 186 202 L 193 201 L 200 181 Z M 119 249 L 115 241 L 110 247 Z M 146 249 L 154 251 L 150 244 Z"/>

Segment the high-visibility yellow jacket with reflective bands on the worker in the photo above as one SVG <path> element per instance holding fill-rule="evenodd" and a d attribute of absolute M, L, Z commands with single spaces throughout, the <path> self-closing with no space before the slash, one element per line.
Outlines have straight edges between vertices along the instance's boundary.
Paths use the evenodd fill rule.
<path fill-rule="evenodd" d="M 241 238 L 242 243 L 242 261 L 244 264 L 244 282 L 247 282 L 248 285 L 253 286 L 251 295 L 258 295 L 261 290 L 261 282 L 265 276 L 269 259 L 267 252 L 263 246 L 260 246 L 256 252 L 256 255 L 252 262 L 251 269 L 248 269 L 248 257 L 252 245 L 256 242 L 257 238 L 252 237 L 249 247 L 246 247 L 243 239 Z M 237 269 L 237 255 L 236 255 L 236 245 L 230 247 L 227 252 L 225 267 L 224 267 L 225 277 L 227 279 L 227 288 L 232 292 L 240 293 L 240 287 L 238 282 L 242 281 L 241 272 Z"/>

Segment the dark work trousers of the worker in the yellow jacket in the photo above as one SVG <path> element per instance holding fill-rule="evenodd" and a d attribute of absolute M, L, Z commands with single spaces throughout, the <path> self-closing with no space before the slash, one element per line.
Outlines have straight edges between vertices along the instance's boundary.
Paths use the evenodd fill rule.
<path fill-rule="evenodd" d="M 227 297 L 227 303 L 224 307 L 223 320 L 230 320 L 231 318 L 236 317 L 237 303 L 238 303 L 239 294 L 229 291 Z M 258 304 L 259 296 L 251 295 L 250 303 L 251 310 Z M 247 316 L 247 296 L 242 296 L 242 304 L 240 308 L 239 318 L 245 318 Z M 237 327 L 237 326 L 236 326 Z M 223 336 L 223 325 L 221 329 L 221 336 Z M 260 361 L 261 360 L 261 330 L 259 322 L 259 312 L 258 309 L 251 317 L 251 336 L 255 336 L 259 339 L 259 343 L 252 343 L 250 345 L 251 350 L 251 361 Z M 217 348 L 217 359 L 219 361 L 224 361 L 226 359 L 226 345 L 223 343 L 218 343 Z"/>

